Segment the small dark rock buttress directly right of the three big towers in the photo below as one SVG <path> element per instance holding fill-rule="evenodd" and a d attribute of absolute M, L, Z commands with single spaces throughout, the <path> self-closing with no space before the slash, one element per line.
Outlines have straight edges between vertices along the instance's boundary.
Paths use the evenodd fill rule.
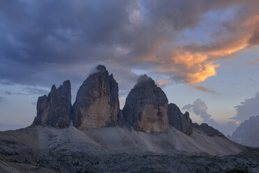
<path fill-rule="evenodd" d="M 191 135 L 193 130 L 193 123 L 189 117 L 189 112 L 182 114 L 177 105 L 170 103 L 168 104 L 167 114 L 171 126 L 180 130 L 186 135 Z"/>

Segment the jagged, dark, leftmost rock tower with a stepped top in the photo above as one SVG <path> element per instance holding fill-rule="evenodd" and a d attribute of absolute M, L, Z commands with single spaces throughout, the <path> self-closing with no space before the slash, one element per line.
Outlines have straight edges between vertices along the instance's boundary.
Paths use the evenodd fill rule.
<path fill-rule="evenodd" d="M 58 89 L 53 85 L 48 96 L 38 98 L 37 116 L 33 125 L 68 128 L 71 112 L 71 84 L 69 80 L 66 80 Z"/>

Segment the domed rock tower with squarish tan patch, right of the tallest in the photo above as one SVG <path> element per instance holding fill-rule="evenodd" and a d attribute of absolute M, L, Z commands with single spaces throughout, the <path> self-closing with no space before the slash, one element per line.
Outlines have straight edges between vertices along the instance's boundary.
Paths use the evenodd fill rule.
<path fill-rule="evenodd" d="M 164 91 L 143 75 L 126 98 L 123 116 L 135 130 L 160 133 L 169 129 L 167 105 Z"/>

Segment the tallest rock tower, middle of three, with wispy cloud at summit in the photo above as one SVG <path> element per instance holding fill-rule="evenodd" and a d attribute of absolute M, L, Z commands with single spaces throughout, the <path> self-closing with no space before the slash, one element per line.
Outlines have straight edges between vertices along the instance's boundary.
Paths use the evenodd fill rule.
<path fill-rule="evenodd" d="M 116 126 L 119 111 L 118 83 L 99 65 L 77 91 L 73 125 L 85 130 Z"/>

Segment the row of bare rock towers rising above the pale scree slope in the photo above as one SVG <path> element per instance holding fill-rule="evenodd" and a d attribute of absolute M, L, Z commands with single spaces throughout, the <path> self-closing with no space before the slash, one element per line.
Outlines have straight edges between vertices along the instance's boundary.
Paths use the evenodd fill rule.
<path fill-rule="evenodd" d="M 37 116 L 33 125 L 68 128 L 70 120 L 80 130 L 118 124 L 120 127 L 127 125 L 146 133 L 162 133 L 173 126 L 182 133 L 191 135 L 195 126 L 208 135 L 222 135 L 210 126 L 192 123 L 189 112 L 182 114 L 177 105 L 168 104 L 164 91 L 147 75 L 139 77 L 126 98 L 123 110 L 120 110 L 118 83 L 113 75 L 109 75 L 105 66 L 101 65 L 83 82 L 73 106 L 69 80 L 63 82 L 58 89 L 53 85 L 48 96 L 38 98 Z"/>

